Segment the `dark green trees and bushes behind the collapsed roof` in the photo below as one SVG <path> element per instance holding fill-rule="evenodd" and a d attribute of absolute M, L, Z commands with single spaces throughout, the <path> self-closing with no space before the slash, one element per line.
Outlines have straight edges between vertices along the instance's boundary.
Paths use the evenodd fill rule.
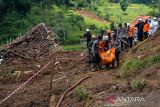
<path fill-rule="evenodd" d="M 0 0 L 0 44 L 25 34 L 31 27 L 42 22 L 58 34 L 61 44 L 64 45 L 79 44 L 86 28 L 93 28 L 93 32 L 99 33 L 103 23 L 77 15 L 73 7 L 79 2 L 68 1 Z M 87 5 L 89 4 L 88 1 Z M 22 7 L 25 8 L 21 9 Z"/>

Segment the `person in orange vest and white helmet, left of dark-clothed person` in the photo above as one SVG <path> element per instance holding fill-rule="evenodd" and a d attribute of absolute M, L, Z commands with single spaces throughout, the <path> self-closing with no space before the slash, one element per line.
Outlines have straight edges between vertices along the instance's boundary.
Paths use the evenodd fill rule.
<path fill-rule="evenodd" d="M 128 33 L 129 46 L 130 46 L 130 48 L 132 48 L 133 47 L 133 39 L 134 39 L 134 35 L 135 35 L 135 29 L 133 26 L 130 25 L 130 23 L 127 23 L 127 26 L 128 26 L 127 33 Z"/>

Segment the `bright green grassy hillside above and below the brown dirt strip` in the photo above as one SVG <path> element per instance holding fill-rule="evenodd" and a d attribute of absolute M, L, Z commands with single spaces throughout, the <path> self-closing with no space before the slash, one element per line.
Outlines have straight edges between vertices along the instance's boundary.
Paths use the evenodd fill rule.
<path fill-rule="evenodd" d="M 107 0 L 100 0 L 99 3 L 96 4 L 96 8 L 97 10 L 92 10 L 89 7 L 85 7 L 83 8 L 83 10 L 86 10 L 86 14 L 88 13 L 88 11 L 92 11 L 95 13 L 95 15 L 97 14 L 103 20 L 109 22 L 114 21 L 116 26 L 118 25 L 118 23 L 131 22 L 139 15 L 147 15 L 152 10 L 151 8 L 143 4 L 131 4 L 124 13 L 120 8 L 119 3 L 109 3 Z M 75 12 L 75 10 L 73 10 L 72 12 Z M 101 20 L 96 20 L 85 15 L 83 17 L 85 22 L 84 28 L 95 28 L 93 30 L 93 34 L 99 33 L 100 29 L 110 28 L 109 23 L 106 24 Z"/>

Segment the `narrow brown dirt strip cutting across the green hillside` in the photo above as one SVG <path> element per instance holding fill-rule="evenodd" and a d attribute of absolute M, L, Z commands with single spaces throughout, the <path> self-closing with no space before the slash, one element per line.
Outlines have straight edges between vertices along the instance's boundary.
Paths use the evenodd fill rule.
<path fill-rule="evenodd" d="M 88 17 L 94 20 L 97 20 L 99 22 L 108 24 L 109 22 L 107 22 L 106 20 L 102 19 L 101 17 L 97 16 L 95 13 L 90 12 L 88 10 L 80 10 L 80 9 L 76 9 L 76 12 L 81 15 L 82 17 Z"/>

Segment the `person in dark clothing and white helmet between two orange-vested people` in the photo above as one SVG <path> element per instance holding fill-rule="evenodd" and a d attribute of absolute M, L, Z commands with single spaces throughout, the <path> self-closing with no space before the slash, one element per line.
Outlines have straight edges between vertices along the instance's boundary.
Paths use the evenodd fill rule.
<path fill-rule="evenodd" d="M 135 25 L 135 27 L 137 27 L 138 29 L 138 40 L 139 41 L 143 41 L 143 22 L 142 22 L 142 19 L 139 19 L 138 20 L 138 23 Z"/>

